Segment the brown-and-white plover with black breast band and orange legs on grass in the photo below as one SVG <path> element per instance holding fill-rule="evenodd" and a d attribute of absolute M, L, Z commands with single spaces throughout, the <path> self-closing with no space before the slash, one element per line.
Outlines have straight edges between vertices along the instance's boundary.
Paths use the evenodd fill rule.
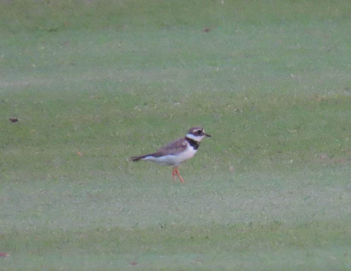
<path fill-rule="evenodd" d="M 192 127 L 185 137 L 179 138 L 161 147 L 158 151 L 141 156 L 130 157 L 130 161 L 149 160 L 163 166 L 174 166 L 172 177 L 176 182 L 175 174 L 184 183 L 178 172 L 178 165 L 185 160 L 192 158 L 197 152 L 201 139 L 211 137 L 206 134 L 202 127 Z"/>

